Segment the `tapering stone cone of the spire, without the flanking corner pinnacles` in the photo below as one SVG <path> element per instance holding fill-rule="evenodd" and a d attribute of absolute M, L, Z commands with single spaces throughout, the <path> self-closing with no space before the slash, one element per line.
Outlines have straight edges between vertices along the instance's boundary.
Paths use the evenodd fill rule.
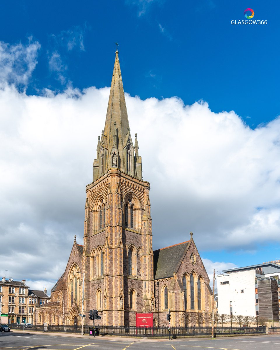
<path fill-rule="evenodd" d="M 110 154 L 114 144 L 114 136 L 116 136 L 115 134 L 117 129 L 117 147 L 120 157 L 119 168 L 124 171 L 124 143 L 126 135 L 130 131 L 130 128 L 128 123 L 125 94 L 123 80 L 121 78 L 118 53 L 119 52 L 116 51 L 116 59 L 114 64 L 111 91 L 106 114 L 104 135 L 107 137 L 108 152 Z M 116 124 L 114 125 L 115 122 Z M 111 168 L 110 162 L 111 158 L 107 157 L 106 169 Z"/>

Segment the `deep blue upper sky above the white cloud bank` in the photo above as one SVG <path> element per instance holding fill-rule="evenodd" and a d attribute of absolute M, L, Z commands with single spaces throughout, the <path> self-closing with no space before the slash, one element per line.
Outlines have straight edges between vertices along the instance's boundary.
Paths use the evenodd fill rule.
<path fill-rule="evenodd" d="M 1 40 L 41 44 L 28 93 L 51 86 L 103 87 L 118 41 L 126 91 L 141 99 L 180 96 L 204 99 L 215 112 L 234 110 L 250 126 L 278 116 L 279 34 L 276 1 L 13 1 L 2 2 Z M 231 25 L 245 19 L 267 25 Z M 73 47 L 67 41 L 74 36 Z M 82 40 L 82 47 L 80 45 Z M 49 58 L 57 52 L 64 84 Z M 136 68 L 136 69 L 135 69 Z"/>

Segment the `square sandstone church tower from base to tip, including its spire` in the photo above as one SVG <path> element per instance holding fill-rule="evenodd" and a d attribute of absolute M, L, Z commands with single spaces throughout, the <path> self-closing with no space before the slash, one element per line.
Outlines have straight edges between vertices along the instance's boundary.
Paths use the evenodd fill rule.
<path fill-rule="evenodd" d="M 93 182 L 86 186 L 85 305 L 100 311 L 99 324 L 134 325 L 135 311 L 153 311 L 149 189 L 137 134 L 133 145 L 130 133 L 117 50 Z"/>

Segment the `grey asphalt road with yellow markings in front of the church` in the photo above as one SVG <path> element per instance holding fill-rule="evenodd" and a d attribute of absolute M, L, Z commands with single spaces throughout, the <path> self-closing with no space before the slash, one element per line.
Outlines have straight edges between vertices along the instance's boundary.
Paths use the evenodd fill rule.
<path fill-rule="evenodd" d="M 200 339 L 82 338 L 50 334 L 1 332 L 0 350 L 279 350 L 279 336 Z"/>

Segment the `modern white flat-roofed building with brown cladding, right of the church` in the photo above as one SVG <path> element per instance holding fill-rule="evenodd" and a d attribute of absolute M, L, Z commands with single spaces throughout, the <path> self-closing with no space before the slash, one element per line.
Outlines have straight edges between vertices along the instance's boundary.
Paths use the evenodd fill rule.
<path fill-rule="evenodd" d="M 279 321 L 280 261 L 224 270 L 216 275 L 219 314 Z"/>

